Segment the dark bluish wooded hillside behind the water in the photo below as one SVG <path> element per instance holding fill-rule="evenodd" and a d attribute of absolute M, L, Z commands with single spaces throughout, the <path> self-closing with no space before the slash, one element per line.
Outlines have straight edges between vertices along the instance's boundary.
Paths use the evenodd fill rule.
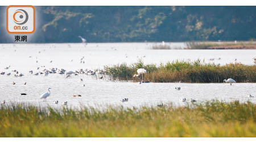
<path fill-rule="evenodd" d="M 36 6 L 36 12 L 35 43 L 77 43 L 79 35 L 88 42 L 256 38 L 255 6 Z M 1 43 L 12 42 L 6 35 Z"/>

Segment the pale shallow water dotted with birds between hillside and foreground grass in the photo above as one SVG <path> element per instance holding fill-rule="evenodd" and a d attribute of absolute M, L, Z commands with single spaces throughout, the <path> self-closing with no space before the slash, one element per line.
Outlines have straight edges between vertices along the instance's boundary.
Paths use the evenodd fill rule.
<path fill-rule="evenodd" d="M 68 101 L 68 106 L 82 105 L 123 105 L 136 106 L 158 105 L 159 103 L 174 103 L 184 105 L 179 99 L 196 99 L 197 102 L 218 99 L 220 101 L 250 100 L 247 94 L 256 97 L 256 83 L 133 83 L 97 80 L 96 77 L 79 74 L 65 78 L 60 74 L 48 76 L 35 76 L 28 70 L 45 65 L 49 68 L 64 68 L 66 70 L 96 69 L 104 65 L 113 65 L 122 62 L 127 64 L 142 59 L 146 64 L 167 62 L 176 59 L 196 60 L 205 59 L 205 62 L 227 64 L 238 62 L 252 65 L 256 50 L 152 50 L 155 43 L 89 43 L 83 44 L 0 44 L 0 72 L 12 73 L 11 76 L 0 75 L 0 100 L 6 102 L 30 102 L 35 105 L 54 105 L 52 101 Z M 168 44 L 168 43 L 166 43 Z M 184 48 L 184 43 L 171 43 L 171 45 Z M 40 52 L 40 53 L 39 53 Z M 32 57 L 29 57 L 32 56 Z M 84 56 L 85 63 L 80 63 Z M 127 56 L 127 57 L 126 57 Z M 138 57 L 137 57 L 138 56 Z M 209 59 L 214 58 L 213 61 Z M 218 58 L 221 58 L 218 60 Z M 38 63 L 36 63 L 38 60 Z M 52 62 L 50 62 L 52 60 Z M 73 61 L 71 61 L 73 60 Z M 10 69 L 4 69 L 11 65 Z M 14 77 L 11 70 L 17 69 L 23 77 Z M 39 70 L 43 70 L 40 68 Z M 80 81 L 80 78 L 83 81 Z M 16 82 L 13 85 L 13 82 Z M 27 82 L 27 85 L 23 85 Z M 85 85 L 85 87 L 83 86 Z M 181 90 L 175 90 L 175 87 Z M 47 102 L 40 100 L 40 94 L 51 87 L 51 95 Z M 20 95 L 26 93 L 27 95 Z M 71 95 L 82 97 L 71 97 Z M 119 99 L 129 98 L 128 102 Z M 188 101 L 187 101 L 188 102 Z"/>

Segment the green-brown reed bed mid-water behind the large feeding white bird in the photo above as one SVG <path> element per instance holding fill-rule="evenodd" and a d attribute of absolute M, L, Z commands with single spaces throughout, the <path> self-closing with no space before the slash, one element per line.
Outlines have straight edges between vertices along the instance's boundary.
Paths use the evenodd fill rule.
<path fill-rule="evenodd" d="M 132 80 L 133 74 L 137 74 L 139 68 L 147 70 L 145 81 L 150 82 L 217 83 L 227 78 L 233 78 L 237 82 L 256 82 L 256 65 L 243 65 L 238 62 L 220 66 L 205 64 L 204 60 L 176 60 L 156 66 L 155 64 L 144 65 L 139 60 L 131 65 L 123 63 L 105 66 L 106 73 L 112 77 L 112 80 Z"/>

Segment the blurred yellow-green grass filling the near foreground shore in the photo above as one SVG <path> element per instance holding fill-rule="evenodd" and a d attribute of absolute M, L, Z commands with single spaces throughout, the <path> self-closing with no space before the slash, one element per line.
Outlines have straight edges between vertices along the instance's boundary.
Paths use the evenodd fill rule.
<path fill-rule="evenodd" d="M 0 107 L 0 137 L 255 137 L 255 110 L 218 101 L 105 110 L 11 103 Z"/>

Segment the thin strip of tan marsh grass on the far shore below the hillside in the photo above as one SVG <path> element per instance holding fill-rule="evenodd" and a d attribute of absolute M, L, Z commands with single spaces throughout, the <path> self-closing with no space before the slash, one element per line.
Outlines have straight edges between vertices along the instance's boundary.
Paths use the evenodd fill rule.
<path fill-rule="evenodd" d="M 228 46 L 255 46 L 256 43 L 253 41 L 247 41 L 247 42 L 222 42 L 222 43 L 216 43 L 216 42 L 188 42 L 186 43 L 187 48 L 186 49 L 210 49 L 211 47 L 228 47 Z"/>

